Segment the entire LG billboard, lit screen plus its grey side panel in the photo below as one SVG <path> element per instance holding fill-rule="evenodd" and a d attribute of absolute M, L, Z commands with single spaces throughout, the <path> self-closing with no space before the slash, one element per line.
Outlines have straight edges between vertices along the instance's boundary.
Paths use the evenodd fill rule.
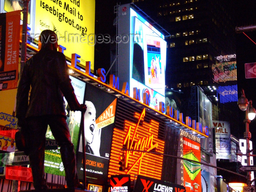
<path fill-rule="evenodd" d="M 130 4 L 120 6 L 118 31 L 122 41 L 118 43 L 118 77 L 133 88 L 150 95 L 150 106 L 158 109 L 165 102 L 166 41 L 164 35 L 151 25 Z M 124 37 L 129 37 L 124 42 Z"/>

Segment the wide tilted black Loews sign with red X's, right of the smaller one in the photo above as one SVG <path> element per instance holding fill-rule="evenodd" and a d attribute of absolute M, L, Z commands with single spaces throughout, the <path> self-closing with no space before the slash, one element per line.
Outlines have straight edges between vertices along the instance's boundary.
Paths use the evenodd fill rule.
<path fill-rule="evenodd" d="M 134 192 L 185 192 L 182 185 L 138 175 Z"/>

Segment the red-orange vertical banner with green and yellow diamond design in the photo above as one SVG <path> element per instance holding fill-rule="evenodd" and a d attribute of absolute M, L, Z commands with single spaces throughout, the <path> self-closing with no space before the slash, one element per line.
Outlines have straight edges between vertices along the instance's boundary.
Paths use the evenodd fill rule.
<path fill-rule="evenodd" d="M 183 137 L 183 158 L 193 161 L 201 161 L 200 144 Z M 184 184 L 187 192 L 200 192 L 201 185 L 201 164 L 184 160 Z"/>

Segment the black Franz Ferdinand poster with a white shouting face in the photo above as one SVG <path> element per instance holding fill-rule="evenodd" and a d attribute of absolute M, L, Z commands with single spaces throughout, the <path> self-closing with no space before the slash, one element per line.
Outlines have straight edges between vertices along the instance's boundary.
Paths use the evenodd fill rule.
<path fill-rule="evenodd" d="M 86 182 L 103 184 L 108 177 L 108 163 L 112 142 L 116 97 L 87 84 L 84 114 L 86 150 Z M 77 154 L 79 179 L 83 179 L 82 136 Z"/>

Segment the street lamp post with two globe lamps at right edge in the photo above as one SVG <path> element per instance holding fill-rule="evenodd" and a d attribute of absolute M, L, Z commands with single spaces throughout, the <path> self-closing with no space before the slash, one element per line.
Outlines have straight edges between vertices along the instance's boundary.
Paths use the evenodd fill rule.
<path fill-rule="evenodd" d="M 246 161 L 247 165 L 251 165 L 250 162 L 250 139 L 252 138 L 251 132 L 249 131 L 249 123 L 255 118 L 256 110 L 252 107 L 252 100 L 248 101 L 245 97 L 244 89 L 241 90 L 241 97 L 238 99 L 237 105 L 242 111 L 245 111 L 245 132 L 244 138 L 246 139 Z M 251 172 L 247 172 L 247 185 L 251 186 Z"/>

